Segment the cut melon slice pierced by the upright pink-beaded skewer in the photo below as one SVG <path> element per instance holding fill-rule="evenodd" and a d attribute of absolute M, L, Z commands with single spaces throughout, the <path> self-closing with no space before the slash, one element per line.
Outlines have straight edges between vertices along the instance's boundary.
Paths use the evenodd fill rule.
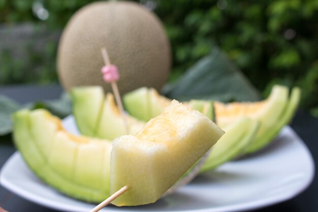
<path fill-rule="evenodd" d="M 105 97 L 100 86 L 73 88 L 70 94 L 73 115 L 83 135 L 113 140 L 125 134 L 135 135 L 145 125 L 144 122 L 126 114 L 127 133 L 113 95 L 109 93 Z"/>

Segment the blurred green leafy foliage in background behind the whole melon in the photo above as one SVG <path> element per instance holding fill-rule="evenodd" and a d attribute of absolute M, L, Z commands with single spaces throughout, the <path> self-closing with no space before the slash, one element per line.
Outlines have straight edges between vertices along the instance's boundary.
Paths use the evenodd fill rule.
<path fill-rule="evenodd" d="M 33 22 L 45 25 L 50 32 L 61 32 L 72 14 L 89 2 L 0 0 L 0 23 Z M 264 96 L 275 83 L 297 85 L 302 88 L 302 106 L 318 113 L 318 1 L 139 2 L 154 8 L 166 27 L 173 49 L 170 80 L 217 45 Z M 46 20 L 40 20 L 45 19 L 43 11 L 42 16 L 38 14 L 40 6 L 49 13 Z M 57 80 L 57 40 L 46 43 L 43 52 L 29 45 L 30 54 L 19 60 L 9 50 L 1 50 L 0 83 Z M 39 77 L 27 77 L 21 70 Z"/>

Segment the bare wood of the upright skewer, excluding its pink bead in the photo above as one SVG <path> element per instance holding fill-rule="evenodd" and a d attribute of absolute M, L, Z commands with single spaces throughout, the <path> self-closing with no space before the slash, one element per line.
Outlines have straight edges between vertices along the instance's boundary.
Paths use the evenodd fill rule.
<path fill-rule="evenodd" d="M 108 56 L 108 53 L 107 53 L 107 50 L 106 50 L 105 47 L 102 48 L 102 54 L 103 54 L 103 59 L 104 59 L 105 65 L 106 66 L 110 66 L 111 65 L 110 59 L 109 59 L 109 56 Z M 117 83 L 114 81 L 114 82 L 111 82 L 110 84 L 112 86 L 112 90 L 113 90 L 113 93 L 114 93 L 114 96 L 115 96 L 115 100 L 116 100 L 117 106 L 119 108 L 119 112 L 121 113 L 121 116 L 122 116 L 122 119 L 123 119 L 123 123 L 124 123 L 124 126 L 125 126 L 126 134 L 129 134 L 129 128 L 128 128 L 128 123 L 127 123 L 127 119 L 126 119 L 126 114 L 125 114 L 125 112 L 123 110 L 123 106 L 122 106 L 122 102 L 121 102 L 121 99 L 120 99 L 120 94 L 119 94 L 119 89 L 118 89 Z"/>

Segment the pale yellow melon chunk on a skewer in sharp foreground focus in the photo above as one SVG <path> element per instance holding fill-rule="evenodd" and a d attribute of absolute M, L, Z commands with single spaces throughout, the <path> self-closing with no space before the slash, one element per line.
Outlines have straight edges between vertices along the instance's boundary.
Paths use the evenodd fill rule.
<path fill-rule="evenodd" d="M 224 134 L 207 116 L 172 101 L 136 136 L 113 141 L 111 193 L 129 190 L 112 203 L 140 205 L 160 198 Z"/>

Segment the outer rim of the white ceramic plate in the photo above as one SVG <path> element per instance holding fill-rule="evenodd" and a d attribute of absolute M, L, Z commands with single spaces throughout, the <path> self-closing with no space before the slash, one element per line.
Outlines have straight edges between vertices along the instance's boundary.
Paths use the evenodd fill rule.
<path fill-rule="evenodd" d="M 312 183 L 312 180 L 314 178 L 314 172 L 315 172 L 315 166 L 314 166 L 314 161 L 312 158 L 312 155 L 310 153 L 310 150 L 304 143 L 304 141 L 295 133 L 295 131 L 290 127 L 290 126 L 285 126 L 284 129 L 288 130 L 288 133 L 291 133 L 293 137 L 296 138 L 296 142 L 298 142 L 300 145 L 302 145 L 303 149 L 305 150 L 306 155 L 308 156 L 309 159 L 309 172 L 308 172 L 308 177 L 305 178 L 303 184 L 293 190 L 292 192 L 288 193 L 283 193 L 283 194 L 278 194 L 278 195 L 273 195 L 270 197 L 258 199 L 258 200 L 253 200 L 250 202 L 242 202 L 242 203 L 234 203 L 226 206 L 219 206 L 219 207 L 214 207 L 214 208 L 201 208 L 201 209 L 191 209 L 191 210 L 185 210 L 187 212 L 221 212 L 221 211 L 228 211 L 228 212 L 234 212 L 234 211 L 241 211 L 241 210 L 252 210 L 252 209 L 257 209 L 257 208 L 262 208 L 265 206 L 273 205 L 275 203 L 283 202 L 286 200 L 289 200 L 300 193 L 302 193 L 304 190 L 306 190 L 309 185 Z M 20 160 L 22 159 L 22 156 L 18 151 L 16 151 L 13 155 L 10 156 L 10 158 L 5 162 L 3 165 L 2 169 L 0 170 L 0 185 L 2 185 L 4 188 L 8 189 L 9 191 L 17 194 L 18 196 L 21 196 L 24 199 L 27 199 L 31 202 L 37 203 L 39 205 L 49 207 L 52 209 L 56 210 L 61 210 L 61 211 L 86 211 L 86 210 L 81 210 L 78 208 L 78 206 L 73 206 L 65 203 L 59 203 L 56 204 L 56 201 L 51 201 L 50 199 L 40 197 L 39 195 L 34 195 L 32 192 L 25 191 L 24 189 L 19 188 L 18 186 L 14 185 L 11 181 L 8 181 L 6 177 L 4 176 L 4 173 L 6 173 L 8 167 L 10 167 L 11 163 L 13 163 L 15 160 Z M 23 159 L 22 159 L 23 161 Z M 24 161 L 23 161 L 24 163 Z M 29 169 L 29 167 L 27 166 Z M 32 171 L 31 171 L 32 172 Z M 32 172 L 33 173 L 33 172 Z M 71 197 L 68 197 L 71 198 Z M 86 203 L 90 204 L 90 203 Z M 94 204 L 91 204 L 92 207 Z M 126 208 L 120 208 L 120 211 L 132 211 L 132 210 L 127 210 Z M 118 211 L 119 211 L 118 210 Z M 109 210 L 107 208 L 103 208 L 101 211 L 114 211 L 114 210 Z M 156 210 L 156 212 L 166 212 L 167 210 Z M 180 210 L 182 211 L 182 210 Z"/>

